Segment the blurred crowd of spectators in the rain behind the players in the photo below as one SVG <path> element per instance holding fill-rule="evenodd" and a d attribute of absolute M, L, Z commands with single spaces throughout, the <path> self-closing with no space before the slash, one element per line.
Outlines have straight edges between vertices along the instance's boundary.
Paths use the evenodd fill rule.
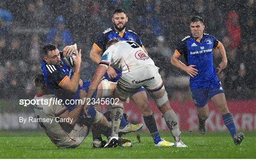
<path fill-rule="evenodd" d="M 226 48 L 229 62 L 219 79 L 227 98 L 256 98 L 255 0 L 1 0 L 0 97 L 33 97 L 40 49 L 46 43 L 60 50 L 77 43 L 82 48 L 82 80 L 91 79 L 96 68 L 89 58 L 91 46 L 113 26 L 112 13 L 118 8 L 127 11 L 127 27 L 141 37 L 160 68 L 169 98 L 191 98 L 189 77 L 171 65 L 170 57 L 190 35 L 188 21 L 194 15 L 204 18 L 205 33 Z M 218 66 L 219 53 L 214 58 Z"/>

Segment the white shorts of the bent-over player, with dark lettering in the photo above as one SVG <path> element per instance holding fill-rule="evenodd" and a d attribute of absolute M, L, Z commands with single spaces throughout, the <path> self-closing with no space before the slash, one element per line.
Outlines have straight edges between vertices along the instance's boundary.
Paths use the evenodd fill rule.
<path fill-rule="evenodd" d="M 164 86 L 161 75 L 155 65 L 145 65 L 128 73 L 123 73 L 118 81 L 115 92 L 122 100 L 133 95 L 140 87 L 155 92 Z"/>

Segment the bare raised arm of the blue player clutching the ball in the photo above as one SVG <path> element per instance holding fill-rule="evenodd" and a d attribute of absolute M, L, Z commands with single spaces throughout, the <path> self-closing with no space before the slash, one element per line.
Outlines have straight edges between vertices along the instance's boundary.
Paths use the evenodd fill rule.
<path fill-rule="evenodd" d="M 78 89 L 78 84 L 80 81 L 80 68 L 81 68 L 81 57 L 82 57 L 82 53 L 81 53 L 81 49 L 79 50 L 79 52 L 76 51 L 76 57 L 74 58 L 71 55 L 71 58 L 73 59 L 73 63 L 75 66 L 75 70 L 74 70 L 74 74 L 72 79 L 70 79 L 68 76 L 66 76 L 66 80 L 64 80 L 64 82 L 60 85 L 61 88 L 72 91 L 73 93 L 75 93 Z"/>

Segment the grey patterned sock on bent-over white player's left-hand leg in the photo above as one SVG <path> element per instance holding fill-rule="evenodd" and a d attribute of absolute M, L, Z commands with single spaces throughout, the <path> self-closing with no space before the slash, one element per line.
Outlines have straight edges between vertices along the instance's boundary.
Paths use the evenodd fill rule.
<path fill-rule="evenodd" d="M 123 108 L 122 107 L 116 107 L 111 109 L 111 116 L 112 116 L 112 125 L 111 125 L 111 129 L 112 129 L 112 133 L 111 136 L 118 136 L 118 130 L 119 130 L 119 126 L 120 126 L 120 122 L 121 122 L 121 118 L 123 116 Z"/>

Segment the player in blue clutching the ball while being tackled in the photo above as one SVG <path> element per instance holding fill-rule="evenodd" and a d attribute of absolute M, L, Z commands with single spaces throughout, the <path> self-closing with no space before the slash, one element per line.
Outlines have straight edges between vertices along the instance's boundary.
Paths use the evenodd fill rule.
<path fill-rule="evenodd" d="M 73 47 L 76 46 L 66 46 L 65 49 L 70 49 Z M 60 52 L 54 44 L 46 44 L 43 47 L 42 51 L 44 60 L 41 63 L 41 67 L 44 74 L 44 79 L 46 81 L 46 85 L 53 91 L 57 98 L 63 100 L 64 105 L 68 108 L 68 110 L 72 111 L 77 106 L 77 103 L 71 102 L 76 102 L 76 100 L 79 99 L 80 90 L 87 91 L 91 83 L 90 80 L 82 81 L 80 79 L 81 50 L 78 52 L 77 49 L 75 49 L 76 57 L 74 58 L 73 56 L 71 56 L 75 66 L 74 71 L 62 61 L 60 55 L 62 54 L 62 52 Z M 109 81 L 104 80 L 102 81 L 102 88 L 104 90 L 108 90 L 109 92 L 102 93 L 102 89 L 100 89 L 99 91 L 102 93 L 103 97 L 107 97 L 110 96 L 111 87 L 114 86 L 114 84 L 111 84 Z M 97 92 L 95 92 L 93 95 L 93 98 L 95 99 L 97 98 Z M 93 121 L 97 113 L 94 106 L 90 105 L 90 107 L 86 109 L 86 113 L 88 114 L 88 116 L 90 116 L 91 121 Z M 96 142 L 98 140 L 102 142 L 100 135 L 99 137 L 96 137 L 93 142 Z"/>

